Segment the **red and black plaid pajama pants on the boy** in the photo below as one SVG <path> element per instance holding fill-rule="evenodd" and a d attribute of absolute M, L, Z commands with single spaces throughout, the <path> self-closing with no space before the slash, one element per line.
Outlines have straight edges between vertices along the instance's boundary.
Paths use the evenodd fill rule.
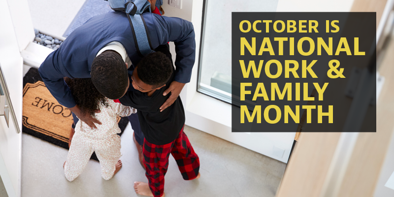
<path fill-rule="evenodd" d="M 145 175 L 148 178 L 149 188 L 154 197 L 161 197 L 163 195 L 164 175 L 168 169 L 170 153 L 178 164 L 183 179 L 192 180 L 198 175 L 199 159 L 189 142 L 189 138 L 183 132 L 183 128 L 178 137 L 168 144 L 156 145 L 144 139 Z"/>

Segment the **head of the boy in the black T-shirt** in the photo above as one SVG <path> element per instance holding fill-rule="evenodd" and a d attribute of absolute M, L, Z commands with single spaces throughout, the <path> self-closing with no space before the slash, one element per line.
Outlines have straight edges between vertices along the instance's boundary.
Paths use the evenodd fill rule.
<path fill-rule="evenodd" d="M 159 90 L 172 74 L 172 64 L 162 52 L 154 52 L 144 57 L 135 67 L 131 84 L 135 90 L 149 92 Z"/>

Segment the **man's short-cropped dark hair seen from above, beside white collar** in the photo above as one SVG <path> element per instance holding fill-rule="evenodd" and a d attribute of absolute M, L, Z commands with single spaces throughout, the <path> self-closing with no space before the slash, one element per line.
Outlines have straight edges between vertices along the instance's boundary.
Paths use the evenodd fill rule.
<path fill-rule="evenodd" d="M 129 85 L 127 67 L 122 56 L 107 50 L 97 56 L 92 63 L 92 82 L 97 90 L 108 99 L 119 99 Z"/>

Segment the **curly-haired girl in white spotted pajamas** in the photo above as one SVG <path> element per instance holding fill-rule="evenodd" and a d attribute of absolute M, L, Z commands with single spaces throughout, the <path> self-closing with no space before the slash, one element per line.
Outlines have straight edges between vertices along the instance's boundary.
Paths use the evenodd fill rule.
<path fill-rule="evenodd" d="M 91 129 L 83 121 L 76 124 L 64 164 L 66 179 L 73 181 L 78 177 L 92 153 L 96 152 L 101 165 L 101 176 L 109 180 L 122 167 L 119 160 L 122 156 L 120 136 L 117 135 L 121 130 L 118 127 L 117 116 L 130 116 L 131 113 L 136 113 L 136 110 L 102 96 L 90 78 L 65 80 L 81 111 L 95 116 L 102 123 L 97 125 L 97 129 Z M 100 110 L 100 113 L 95 113 L 95 110 Z"/>

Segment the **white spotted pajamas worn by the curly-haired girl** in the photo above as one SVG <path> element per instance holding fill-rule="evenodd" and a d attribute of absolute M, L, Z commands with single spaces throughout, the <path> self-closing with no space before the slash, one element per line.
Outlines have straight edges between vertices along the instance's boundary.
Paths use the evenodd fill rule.
<path fill-rule="evenodd" d="M 75 126 L 75 134 L 64 166 L 68 181 L 73 181 L 82 173 L 93 152 L 96 152 L 99 159 L 102 178 L 109 180 L 114 175 L 115 164 L 122 156 L 120 136 L 116 134 L 120 132 L 116 116 L 129 116 L 135 113 L 136 109 L 110 99 L 107 99 L 107 102 L 110 106 L 101 106 L 101 112 L 96 114 L 96 118 L 101 122 L 101 125 L 96 125 L 97 129 L 90 129 L 82 121 L 78 121 Z"/>

